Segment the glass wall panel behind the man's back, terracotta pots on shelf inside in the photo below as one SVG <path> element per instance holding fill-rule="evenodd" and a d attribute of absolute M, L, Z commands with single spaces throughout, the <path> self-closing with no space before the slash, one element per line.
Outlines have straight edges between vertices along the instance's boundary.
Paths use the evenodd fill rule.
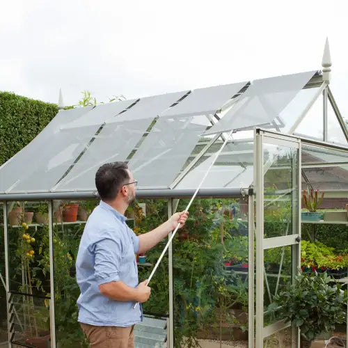
<path fill-rule="evenodd" d="M 98 200 L 53 201 L 54 316 L 57 347 L 89 347 L 77 322 L 80 289 L 76 281 L 75 262 L 86 220 L 97 204 Z"/>

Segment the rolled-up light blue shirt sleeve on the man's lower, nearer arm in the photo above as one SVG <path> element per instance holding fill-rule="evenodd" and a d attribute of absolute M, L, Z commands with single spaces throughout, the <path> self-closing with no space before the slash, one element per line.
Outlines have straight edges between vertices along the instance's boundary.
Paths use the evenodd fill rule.
<path fill-rule="evenodd" d="M 95 243 L 94 274 L 97 285 L 120 280 L 122 245 L 118 239 L 105 238 Z"/>

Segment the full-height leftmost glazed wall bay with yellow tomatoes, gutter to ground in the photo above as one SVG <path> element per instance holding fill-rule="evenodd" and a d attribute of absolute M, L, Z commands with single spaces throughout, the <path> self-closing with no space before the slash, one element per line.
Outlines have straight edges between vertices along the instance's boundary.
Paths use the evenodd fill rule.
<path fill-rule="evenodd" d="M 8 202 L 9 303 L 13 344 L 47 347 L 50 262 L 47 202 Z"/>

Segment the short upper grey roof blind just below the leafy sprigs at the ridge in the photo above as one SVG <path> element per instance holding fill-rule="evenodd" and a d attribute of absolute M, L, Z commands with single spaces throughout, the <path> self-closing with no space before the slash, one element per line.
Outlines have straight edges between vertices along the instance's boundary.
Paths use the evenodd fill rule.
<path fill-rule="evenodd" d="M 122 102 L 113 102 L 107 104 L 100 104 L 90 110 L 84 117 L 73 120 L 72 122 L 65 125 L 63 129 L 79 128 L 79 127 L 90 127 L 90 126 L 101 126 L 106 120 L 113 119 L 118 113 L 127 109 L 136 100 L 122 100 Z"/>

